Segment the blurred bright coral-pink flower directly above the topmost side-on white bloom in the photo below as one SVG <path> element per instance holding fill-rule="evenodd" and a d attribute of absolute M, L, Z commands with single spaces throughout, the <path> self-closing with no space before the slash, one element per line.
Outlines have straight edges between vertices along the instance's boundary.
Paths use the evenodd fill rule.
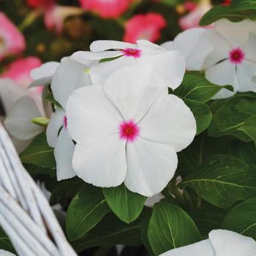
<path fill-rule="evenodd" d="M 138 39 L 147 39 L 156 42 L 161 36 L 161 29 L 165 26 L 165 18 L 158 13 L 135 15 L 125 24 L 124 41 L 135 43 Z"/>

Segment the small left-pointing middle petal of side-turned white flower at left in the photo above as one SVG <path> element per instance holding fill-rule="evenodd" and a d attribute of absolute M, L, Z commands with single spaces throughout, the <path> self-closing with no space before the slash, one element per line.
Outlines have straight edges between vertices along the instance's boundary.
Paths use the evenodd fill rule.
<path fill-rule="evenodd" d="M 64 126 L 65 111 L 62 108 L 56 108 L 55 113 L 50 118 L 46 129 L 46 138 L 48 145 L 54 148 L 59 134 L 59 129 Z"/>

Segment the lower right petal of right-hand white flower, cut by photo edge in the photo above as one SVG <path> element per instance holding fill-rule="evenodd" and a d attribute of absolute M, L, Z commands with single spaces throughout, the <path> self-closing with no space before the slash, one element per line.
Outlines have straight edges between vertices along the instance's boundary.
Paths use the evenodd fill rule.
<path fill-rule="evenodd" d="M 256 91 L 256 83 L 252 80 L 253 75 L 256 74 L 256 63 L 251 61 L 244 61 L 238 65 L 237 68 L 238 91 Z"/>

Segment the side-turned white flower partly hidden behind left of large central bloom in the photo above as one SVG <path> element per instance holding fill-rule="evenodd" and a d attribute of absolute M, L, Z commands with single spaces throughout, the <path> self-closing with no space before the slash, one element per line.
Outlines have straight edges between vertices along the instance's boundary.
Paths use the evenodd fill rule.
<path fill-rule="evenodd" d="M 85 65 L 66 58 L 61 61 L 51 83 L 53 97 L 62 108 L 56 107 L 56 111 L 48 124 L 46 135 L 49 146 L 54 148 L 59 181 L 75 176 L 72 170 L 72 155 L 75 145 L 67 131 L 66 105 L 67 98 L 72 94 L 72 91 L 82 86 L 91 85 L 90 76 L 85 70 Z"/>

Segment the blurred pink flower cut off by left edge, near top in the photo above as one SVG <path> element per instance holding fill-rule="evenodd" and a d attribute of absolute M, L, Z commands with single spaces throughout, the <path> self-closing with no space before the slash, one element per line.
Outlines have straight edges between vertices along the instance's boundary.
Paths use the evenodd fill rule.
<path fill-rule="evenodd" d="M 25 47 L 23 34 L 0 12 L 0 60 L 10 54 L 21 53 Z"/>

